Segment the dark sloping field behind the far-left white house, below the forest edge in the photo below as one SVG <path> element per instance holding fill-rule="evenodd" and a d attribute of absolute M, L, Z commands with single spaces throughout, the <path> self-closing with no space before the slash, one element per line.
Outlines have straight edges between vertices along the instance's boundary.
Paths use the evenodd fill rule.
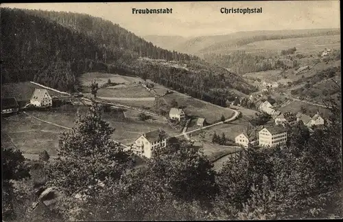
<path fill-rule="evenodd" d="M 17 101 L 29 101 L 34 89 L 43 89 L 31 82 L 13 82 L 1 84 L 1 98 L 15 97 Z M 50 96 L 66 96 L 62 93 L 47 89 Z"/>

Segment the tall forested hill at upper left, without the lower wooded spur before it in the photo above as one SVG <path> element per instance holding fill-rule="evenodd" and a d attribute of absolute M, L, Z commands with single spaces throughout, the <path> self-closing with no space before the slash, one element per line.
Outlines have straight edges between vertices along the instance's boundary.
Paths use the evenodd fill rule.
<path fill-rule="evenodd" d="M 107 71 L 108 64 L 138 56 L 197 59 L 156 47 L 86 14 L 1 8 L 1 82 L 36 80 L 72 91 L 80 74 Z M 67 71 L 56 70 L 64 67 Z M 47 74 L 49 69 L 56 73 Z"/>

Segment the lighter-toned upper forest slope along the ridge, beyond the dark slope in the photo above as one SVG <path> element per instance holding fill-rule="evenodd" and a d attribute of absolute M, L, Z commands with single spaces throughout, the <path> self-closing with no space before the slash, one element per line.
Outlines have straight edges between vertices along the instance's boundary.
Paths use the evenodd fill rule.
<path fill-rule="evenodd" d="M 104 49 L 124 49 L 134 52 L 137 56 L 165 60 L 190 60 L 196 58 L 195 56 L 180 54 L 175 51 L 170 52 L 161 47 L 156 47 L 156 45 L 145 41 L 143 38 L 136 36 L 118 24 L 113 24 L 111 21 L 88 14 L 43 10 L 29 10 L 27 12 L 51 21 L 56 21 L 72 30 L 90 36 L 96 41 L 99 47 L 104 47 Z M 104 53 L 97 55 L 96 59 L 102 60 L 104 63 L 113 62 L 106 57 L 106 51 L 104 51 Z"/>

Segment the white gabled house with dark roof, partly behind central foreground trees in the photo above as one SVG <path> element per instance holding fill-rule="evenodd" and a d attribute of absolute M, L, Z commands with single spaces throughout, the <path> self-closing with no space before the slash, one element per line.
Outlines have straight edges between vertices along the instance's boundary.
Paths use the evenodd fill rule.
<path fill-rule="evenodd" d="M 152 151 L 156 148 L 167 146 L 167 135 L 163 129 L 143 133 L 132 146 L 132 151 L 137 155 L 143 155 L 147 158 L 152 157 Z"/>

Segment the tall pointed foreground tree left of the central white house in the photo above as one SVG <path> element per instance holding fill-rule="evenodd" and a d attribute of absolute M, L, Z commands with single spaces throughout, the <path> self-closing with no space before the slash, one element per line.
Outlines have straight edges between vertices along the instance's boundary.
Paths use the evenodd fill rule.
<path fill-rule="evenodd" d="M 86 115 L 78 115 L 73 129 L 60 135 L 58 158 L 49 168 L 49 185 L 68 195 L 92 196 L 109 181 L 119 179 L 131 158 L 110 140 L 114 131 L 102 120 L 99 104 L 93 102 Z"/>

